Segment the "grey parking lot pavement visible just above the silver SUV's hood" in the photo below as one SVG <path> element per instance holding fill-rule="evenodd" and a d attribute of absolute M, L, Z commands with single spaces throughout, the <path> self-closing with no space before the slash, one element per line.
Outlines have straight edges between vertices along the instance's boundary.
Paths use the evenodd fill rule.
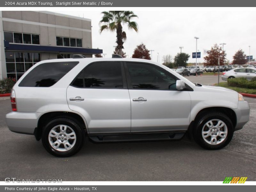
<path fill-rule="evenodd" d="M 184 77 L 193 83 L 199 83 L 203 85 L 213 85 L 218 83 L 217 75 L 205 75 L 205 76 L 199 75 L 199 76 L 184 76 Z M 221 79 L 221 75 L 220 75 L 220 82 L 226 82 Z"/>

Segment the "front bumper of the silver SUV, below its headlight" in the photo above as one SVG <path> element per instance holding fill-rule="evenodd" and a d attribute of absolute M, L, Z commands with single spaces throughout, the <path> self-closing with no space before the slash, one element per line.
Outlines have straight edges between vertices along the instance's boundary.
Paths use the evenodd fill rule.
<path fill-rule="evenodd" d="M 250 106 L 247 101 L 238 101 L 238 108 L 234 109 L 236 113 L 235 131 L 240 130 L 249 121 Z"/>

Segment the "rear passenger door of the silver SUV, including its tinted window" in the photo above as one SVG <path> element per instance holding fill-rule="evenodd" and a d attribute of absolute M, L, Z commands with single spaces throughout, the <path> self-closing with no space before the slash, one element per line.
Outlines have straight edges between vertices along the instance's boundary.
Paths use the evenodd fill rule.
<path fill-rule="evenodd" d="M 121 62 L 94 62 L 67 88 L 68 106 L 90 133 L 130 132 L 131 101 Z"/>

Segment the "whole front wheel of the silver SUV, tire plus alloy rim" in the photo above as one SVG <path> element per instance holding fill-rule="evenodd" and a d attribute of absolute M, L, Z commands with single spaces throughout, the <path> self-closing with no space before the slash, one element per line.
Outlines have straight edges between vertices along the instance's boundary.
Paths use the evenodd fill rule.
<path fill-rule="evenodd" d="M 211 122 L 212 127 L 210 128 Z M 233 137 L 233 133 L 234 127 L 231 120 L 228 116 L 220 112 L 210 112 L 200 116 L 195 121 L 195 127 L 193 129 L 193 136 L 196 143 L 210 150 L 217 150 L 227 146 Z"/>

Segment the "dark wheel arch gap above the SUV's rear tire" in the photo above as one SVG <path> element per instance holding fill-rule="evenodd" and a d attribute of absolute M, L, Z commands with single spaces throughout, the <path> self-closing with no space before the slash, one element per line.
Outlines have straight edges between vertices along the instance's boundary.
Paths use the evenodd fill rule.
<path fill-rule="evenodd" d="M 39 117 L 38 122 L 37 122 L 37 127 L 34 131 L 36 140 L 41 139 L 43 127 L 47 124 L 47 122 L 51 121 L 52 119 L 58 118 L 58 117 L 74 120 L 84 128 L 85 133 L 88 132 L 88 127 L 87 127 L 86 121 L 80 114 L 73 113 L 73 112 L 67 112 L 67 111 L 52 111 L 52 112 L 44 113 L 43 115 L 41 115 Z"/>

